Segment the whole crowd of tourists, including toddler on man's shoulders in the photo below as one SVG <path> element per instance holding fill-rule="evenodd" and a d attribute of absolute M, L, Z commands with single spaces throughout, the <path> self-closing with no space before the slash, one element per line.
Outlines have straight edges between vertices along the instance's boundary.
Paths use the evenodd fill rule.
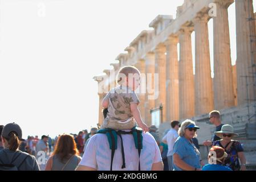
<path fill-rule="evenodd" d="M 129 76 L 132 74 L 132 77 Z M 91 128 L 76 134 L 62 134 L 52 139 L 43 135 L 23 139 L 17 123 L 0 126 L 0 170 L 47 171 L 238 171 L 246 170 L 242 144 L 231 125 L 221 122 L 217 110 L 209 113 L 216 126 L 204 164 L 196 122 L 170 122 L 163 138 L 156 126 L 147 126 L 139 111 L 135 90 L 140 85 L 140 71 L 135 67 L 120 69 L 117 86 L 103 98 L 104 121 L 100 130 Z M 210 133 L 209 133 L 210 136 Z"/>

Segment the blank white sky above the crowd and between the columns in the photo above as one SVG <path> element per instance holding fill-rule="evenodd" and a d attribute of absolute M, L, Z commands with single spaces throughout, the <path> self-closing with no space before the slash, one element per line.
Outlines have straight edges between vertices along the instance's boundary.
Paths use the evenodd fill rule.
<path fill-rule="evenodd" d="M 0 125 L 17 122 L 24 138 L 55 137 L 96 126 L 99 98 L 92 77 L 111 68 L 115 57 L 142 30 L 149 30 L 157 15 L 175 18 L 182 2 L 0 0 Z M 229 7 L 233 64 L 234 10 L 233 4 Z"/>

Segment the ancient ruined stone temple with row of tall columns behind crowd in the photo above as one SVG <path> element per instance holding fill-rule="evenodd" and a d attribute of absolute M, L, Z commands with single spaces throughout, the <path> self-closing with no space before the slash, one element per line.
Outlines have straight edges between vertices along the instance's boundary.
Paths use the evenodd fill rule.
<path fill-rule="evenodd" d="M 234 66 L 231 65 L 227 11 L 232 3 L 235 3 L 237 38 L 237 61 Z M 213 11 L 213 14 L 210 11 Z M 105 75 L 94 79 L 100 83 L 106 78 L 108 81 L 103 85 L 99 84 L 99 89 L 101 86 L 110 89 L 115 86 L 115 77 L 110 76 L 111 72 L 117 73 L 119 68 L 125 65 L 135 65 L 146 75 L 158 73 L 159 97 L 149 100 L 148 92 L 139 93 L 141 117 L 148 125 L 151 125 L 152 121 L 150 110 L 161 105 L 162 123 L 194 118 L 203 127 L 211 110 L 223 110 L 222 113 L 232 117 L 234 114 L 230 113 L 236 112 L 235 119 L 241 111 L 243 124 L 237 124 L 239 130 L 239 127 L 244 127 L 248 122 L 244 115 L 247 114 L 247 107 L 253 108 L 256 93 L 256 86 L 246 84 L 246 79 L 247 82 L 255 84 L 255 77 L 251 73 L 255 72 L 256 64 L 256 45 L 250 41 L 250 37 L 256 35 L 255 21 L 249 17 L 254 18 L 253 0 L 185 0 L 182 6 L 177 7 L 176 19 L 173 19 L 172 15 L 156 16 L 149 24 L 153 30 L 141 31 L 124 49 L 127 53 L 120 53 L 116 57 L 119 63 L 111 64 L 113 70 L 104 70 Z M 208 32 L 210 19 L 213 19 L 213 78 L 210 70 Z M 192 64 L 193 31 L 195 74 Z M 101 101 L 104 94 L 99 92 L 99 124 L 103 122 Z M 232 119 L 228 120 L 232 122 Z M 206 130 L 210 132 L 210 129 Z"/>

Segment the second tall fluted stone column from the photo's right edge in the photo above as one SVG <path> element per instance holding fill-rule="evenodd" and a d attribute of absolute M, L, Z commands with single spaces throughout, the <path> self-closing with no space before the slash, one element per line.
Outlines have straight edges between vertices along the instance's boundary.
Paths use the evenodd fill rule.
<path fill-rule="evenodd" d="M 216 1 L 217 16 L 213 18 L 214 42 L 214 109 L 234 106 L 233 76 L 230 57 L 227 7 L 233 0 Z"/>

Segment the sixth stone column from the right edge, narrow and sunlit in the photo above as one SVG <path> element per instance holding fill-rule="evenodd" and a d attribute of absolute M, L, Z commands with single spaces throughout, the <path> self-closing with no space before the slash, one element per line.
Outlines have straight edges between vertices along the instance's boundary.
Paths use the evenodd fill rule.
<path fill-rule="evenodd" d="M 156 73 L 159 74 L 159 98 L 156 107 L 162 105 L 162 122 L 166 122 L 166 48 L 164 44 L 156 47 Z"/>

